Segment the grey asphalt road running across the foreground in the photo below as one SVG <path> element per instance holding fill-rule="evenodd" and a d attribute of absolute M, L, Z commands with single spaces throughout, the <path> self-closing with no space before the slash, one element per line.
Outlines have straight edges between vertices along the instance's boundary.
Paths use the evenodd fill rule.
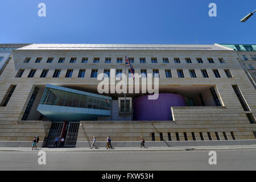
<path fill-rule="evenodd" d="M 190 151 L 66 151 L 46 152 L 46 165 L 38 164 L 38 151 L 0 152 L 0 170 L 256 170 L 256 149 L 216 150 L 210 165 L 207 150 Z"/>

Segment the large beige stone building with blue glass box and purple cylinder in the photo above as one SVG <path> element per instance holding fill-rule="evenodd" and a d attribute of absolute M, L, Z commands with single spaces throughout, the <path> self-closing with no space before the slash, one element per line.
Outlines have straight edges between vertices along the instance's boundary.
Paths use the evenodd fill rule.
<path fill-rule="evenodd" d="M 127 83 L 133 80 L 125 55 L 139 92 L 99 93 L 101 73 L 110 89 L 124 80 L 118 73 L 126 73 Z M 150 73 L 158 78 L 156 100 L 143 91 Z M 114 141 L 256 135 L 254 86 L 237 52 L 218 44 L 31 44 L 13 51 L 0 84 L 0 140 L 39 135 L 51 146 L 58 136 L 76 146 L 108 135 Z M 134 82 L 127 90 L 131 85 L 135 90 Z"/>

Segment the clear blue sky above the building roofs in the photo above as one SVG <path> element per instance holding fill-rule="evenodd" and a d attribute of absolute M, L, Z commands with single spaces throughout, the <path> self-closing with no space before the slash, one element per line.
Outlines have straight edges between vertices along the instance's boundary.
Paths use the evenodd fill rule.
<path fill-rule="evenodd" d="M 0 43 L 256 44 L 256 14 L 240 22 L 255 9 L 255 0 L 8 0 Z"/>

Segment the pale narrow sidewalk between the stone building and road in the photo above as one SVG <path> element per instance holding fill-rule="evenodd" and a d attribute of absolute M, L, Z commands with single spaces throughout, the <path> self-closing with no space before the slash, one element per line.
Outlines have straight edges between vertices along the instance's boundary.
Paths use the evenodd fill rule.
<path fill-rule="evenodd" d="M 32 147 L 0 147 L 0 151 L 20 151 L 20 152 L 35 152 L 35 151 L 46 151 L 46 152 L 90 152 L 90 151 L 185 151 L 185 150 L 245 150 L 245 149 L 256 149 L 256 145 L 243 145 L 243 146 L 191 146 L 191 147 L 116 147 L 113 149 L 106 150 L 105 147 L 92 148 L 80 147 L 80 148 L 37 148 L 32 150 Z"/>

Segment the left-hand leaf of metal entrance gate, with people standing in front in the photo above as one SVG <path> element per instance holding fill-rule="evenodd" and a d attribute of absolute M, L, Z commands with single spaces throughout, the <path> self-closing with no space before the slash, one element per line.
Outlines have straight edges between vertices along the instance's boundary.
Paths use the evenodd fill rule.
<path fill-rule="evenodd" d="M 54 139 L 56 137 L 61 137 L 63 133 L 64 122 L 52 122 L 51 128 L 49 130 L 46 147 L 54 146 Z"/>

